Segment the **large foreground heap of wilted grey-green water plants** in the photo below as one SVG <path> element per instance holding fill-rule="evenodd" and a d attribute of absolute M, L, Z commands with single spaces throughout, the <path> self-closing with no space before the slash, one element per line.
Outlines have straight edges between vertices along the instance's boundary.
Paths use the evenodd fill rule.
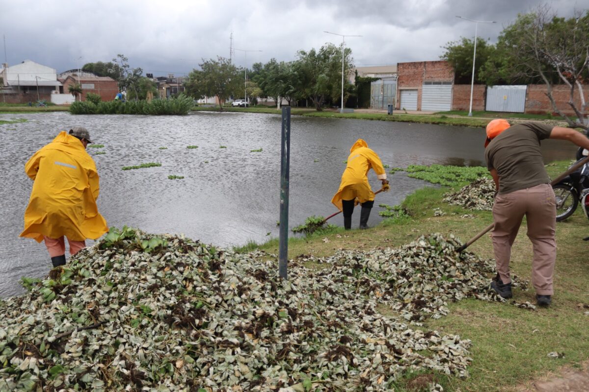
<path fill-rule="evenodd" d="M 491 263 L 459 245 L 436 234 L 300 256 L 283 281 L 264 252 L 111 229 L 0 306 L 0 390 L 385 391 L 409 369 L 466 377 L 469 340 L 412 325 L 448 301 L 501 300 Z"/>

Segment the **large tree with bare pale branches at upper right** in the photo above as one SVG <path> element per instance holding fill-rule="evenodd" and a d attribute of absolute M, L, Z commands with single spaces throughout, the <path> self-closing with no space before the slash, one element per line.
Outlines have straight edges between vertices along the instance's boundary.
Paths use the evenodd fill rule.
<path fill-rule="evenodd" d="M 547 5 L 518 15 L 499 36 L 502 59 L 499 72 L 511 80 L 536 79 L 546 85 L 552 110 L 568 125 L 589 132 L 585 119 L 587 101 L 584 87 L 589 82 L 589 11 L 577 11 L 572 18 L 559 18 Z M 561 83 L 569 88 L 568 105 L 577 119 L 558 109 L 553 87 Z M 575 89 L 581 104 L 575 103 Z"/>

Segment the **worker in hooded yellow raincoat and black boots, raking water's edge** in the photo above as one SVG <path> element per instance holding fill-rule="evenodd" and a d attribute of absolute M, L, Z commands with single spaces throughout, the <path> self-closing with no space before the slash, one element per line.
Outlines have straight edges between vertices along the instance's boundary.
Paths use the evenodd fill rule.
<path fill-rule="evenodd" d="M 342 175 L 342 182 L 332 203 L 340 211 L 343 211 L 343 227 L 346 230 L 352 228 L 352 213 L 356 201 L 362 206 L 360 210 L 360 229 L 368 229 L 370 210 L 374 205 L 374 192 L 368 183 L 368 170 L 372 168 L 376 177 L 382 182 L 385 192 L 389 190 L 389 182 L 386 180 L 385 168 L 376 153 L 368 148 L 368 143 L 362 139 L 356 140 L 350 148 L 348 165 Z"/>

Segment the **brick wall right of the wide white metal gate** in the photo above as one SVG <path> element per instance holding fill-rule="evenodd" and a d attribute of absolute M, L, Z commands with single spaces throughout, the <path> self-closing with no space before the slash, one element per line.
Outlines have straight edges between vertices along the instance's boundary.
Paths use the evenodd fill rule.
<path fill-rule="evenodd" d="M 588 94 L 588 87 L 584 86 L 585 90 L 584 93 Z M 526 113 L 534 113 L 534 114 L 545 114 L 547 112 L 552 113 L 553 115 L 557 115 L 556 112 L 552 112 L 552 104 L 550 103 L 550 99 L 546 95 L 547 89 L 546 85 L 528 85 L 527 96 L 525 99 L 525 112 Z M 571 91 L 568 86 L 565 85 L 557 85 L 552 88 L 552 96 L 557 103 L 557 108 L 562 110 L 566 115 L 573 115 L 576 117 L 573 109 L 571 106 L 568 105 L 568 100 L 571 96 Z M 585 102 L 589 99 L 589 96 L 586 96 Z M 575 95 L 574 95 L 575 105 L 577 108 L 581 108 L 581 99 L 579 98 L 579 91 L 575 88 Z"/>

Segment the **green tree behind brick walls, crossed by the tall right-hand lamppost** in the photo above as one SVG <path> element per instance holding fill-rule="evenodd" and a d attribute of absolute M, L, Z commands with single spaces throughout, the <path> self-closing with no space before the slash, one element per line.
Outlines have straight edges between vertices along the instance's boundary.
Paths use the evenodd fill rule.
<path fill-rule="evenodd" d="M 440 58 L 448 61 L 454 68 L 454 82 L 457 84 L 470 84 L 472 81 L 472 53 L 474 52 L 474 39 L 461 37 L 459 41 L 452 41 L 442 46 L 446 49 Z M 487 63 L 494 53 L 495 46 L 488 45 L 487 41 L 477 37 L 477 58 L 475 59 L 475 83 L 484 83 L 479 77 L 479 71 Z"/>

